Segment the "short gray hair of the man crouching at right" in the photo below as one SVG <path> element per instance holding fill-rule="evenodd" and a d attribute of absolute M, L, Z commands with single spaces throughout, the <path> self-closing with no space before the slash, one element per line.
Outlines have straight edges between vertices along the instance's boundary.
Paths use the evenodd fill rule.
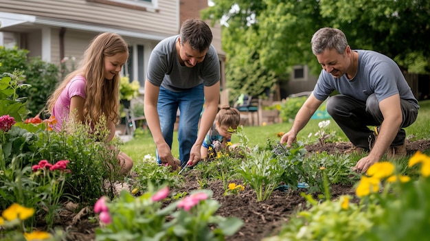
<path fill-rule="evenodd" d="M 313 34 L 310 44 L 315 56 L 322 54 L 326 49 L 336 49 L 339 54 L 343 54 L 348 41 L 341 30 L 323 27 Z"/>

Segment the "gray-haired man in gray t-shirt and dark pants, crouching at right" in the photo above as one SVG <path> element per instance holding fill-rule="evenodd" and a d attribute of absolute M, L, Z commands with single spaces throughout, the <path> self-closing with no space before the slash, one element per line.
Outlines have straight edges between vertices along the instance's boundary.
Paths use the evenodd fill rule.
<path fill-rule="evenodd" d="M 327 111 L 357 150 L 369 152 L 353 169 L 365 172 L 387 151 L 388 158 L 404 156 L 403 128 L 416 121 L 420 107 L 396 62 L 375 51 L 352 50 L 345 34 L 330 27 L 315 32 L 311 44 L 323 70 L 281 142 L 291 146 L 322 102 L 339 91 L 328 98 Z M 377 126 L 376 134 L 368 126 Z"/>

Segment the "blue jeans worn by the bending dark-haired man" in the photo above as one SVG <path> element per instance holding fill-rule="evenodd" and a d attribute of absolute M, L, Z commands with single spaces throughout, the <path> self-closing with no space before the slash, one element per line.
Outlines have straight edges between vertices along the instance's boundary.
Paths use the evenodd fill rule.
<path fill-rule="evenodd" d="M 203 84 L 181 92 L 173 92 L 160 87 L 157 111 L 160 119 L 161 133 L 172 149 L 173 128 L 179 108 L 179 159 L 181 165 L 190 159 L 190 150 L 196 142 L 205 94 Z M 158 153 L 157 162 L 161 163 Z"/>

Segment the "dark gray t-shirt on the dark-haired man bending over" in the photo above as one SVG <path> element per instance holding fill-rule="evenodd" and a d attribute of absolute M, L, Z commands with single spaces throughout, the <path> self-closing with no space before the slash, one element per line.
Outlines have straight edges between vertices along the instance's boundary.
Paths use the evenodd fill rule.
<path fill-rule="evenodd" d="M 210 45 L 205 59 L 190 68 L 179 62 L 176 42 L 179 35 L 163 39 L 152 50 L 147 78 L 151 84 L 179 92 L 203 83 L 210 87 L 220 80 L 220 64 L 216 49 Z"/>

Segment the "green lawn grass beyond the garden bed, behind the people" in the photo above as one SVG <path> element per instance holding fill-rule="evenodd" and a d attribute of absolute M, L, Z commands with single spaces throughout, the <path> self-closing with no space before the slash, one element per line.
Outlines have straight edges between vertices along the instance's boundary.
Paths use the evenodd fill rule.
<path fill-rule="evenodd" d="M 318 123 L 321 119 L 310 119 L 308 124 L 297 135 L 298 140 L 304 140 L 308 137 L 309 133 L 316 133 L 319 130 Z M 244 126 L 243 132 L 249 139 L 249 144 L 264 146 L 267 138 L 279 140 L 278 133 L 286 133 L 292 126 L 292 123 L 270 124 L 266 126 Z M 430 100 L 420 102 L 420 111 L 418 118 L 414 124 L 405 128 L 407 139 L 416 141 L 417 139 L 430 139 Z M 337 124 L 330 119 L 328 126 L 329 133 L 336 133 L 339 141 L 348 141 L 346 135 L 337 126 Z M 313 137 L 315 138 L 315 137 Z M 172 154 L 174 157 L 179 157 L 177 132 L 174 132 L 172 144 Z M 236 136 L 231 137 L 233 143 L 237 142 Z M 155 156 L 155 144 L 152 141 L 152 136 L 149 130 L 145 130 L 144 134 L 137 135 L 131 141 L 126 142 L 121 146 L 122 151 L 126 152 L 133 160 L 140 161 L 144 159 L 146 154 Z"/>

